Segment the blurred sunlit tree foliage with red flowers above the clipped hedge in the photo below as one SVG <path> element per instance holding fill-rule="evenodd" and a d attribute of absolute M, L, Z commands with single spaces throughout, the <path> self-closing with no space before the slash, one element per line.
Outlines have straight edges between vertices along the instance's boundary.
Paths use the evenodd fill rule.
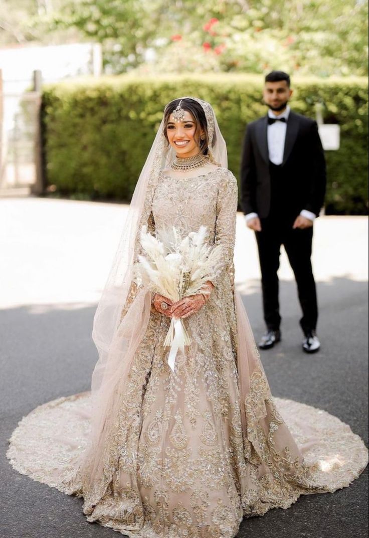
<path fill-rule="evenodd" d="M 0 42 L 82 36 L 107 72 L 366 75 L 368 0 L 3 0 Z"/>

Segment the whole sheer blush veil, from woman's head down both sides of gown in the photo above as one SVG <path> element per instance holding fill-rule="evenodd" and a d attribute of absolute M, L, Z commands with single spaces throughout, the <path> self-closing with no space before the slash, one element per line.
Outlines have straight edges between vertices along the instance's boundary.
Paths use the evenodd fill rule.
<path fill-rule="evenodd" d="M 226 167 L 225 141 L 210 104 L 194 97 L 182 97 L 184 98 L 201 104 L 208 123 L 210 160 Z M 140 395 L 135 394 L 136 400 L 131 401 L 127 395 L 127 381 L 135 353 L 148 326 L 152 294 L 136 283 L 134 263 L 139 253 L 141 225 L 148 224 L 150 230 L 152 199 L 160 171 L 170 166 L 175 158 L 175 152 L 170 149 L 165 138 L 164 128 L 163 120 L 134 190 L 118 251 L 94 318 L 93 339 L 99 359 L 92 379 L 91 433 L 87 449 L 76 462 L 76 472 L 73 470 L 72 478 L 68 479 L 65 488 L 68 493 L 83 495 L 85 514 L 92 513 L 94 506 L 103 498 L 107 483 L 117 469 L 119 450 L 122 447 L 132 454 L 130 480 L 132 487 L 138 489 L 134 456 L 137 447 L 131 446 L 129 441 L 132 431 L 137 434 L 133 438 L 137 438 L 140 433 L 141 416 L 136 403 Z M 150 231 L 154 232 L 154 229 Z M 249 320 L 237 292 L 234 299 L 237 326 L 237 335 L 234 336 L 237 339 L 236 360 L 244 451 L 248 454 L 250 465 L 258 466 L 259 476 L 265 475 L 273 482 L 275 477 L 263 461 L 264 437 L 269 438 L 272 431 L 274 449 L 281 452 L 283 447 L 288 447 L 292 458 L 289 468 L 292 475 L 295 475 L 296 462 L 302 462 L 302 456 L 288 428 L 278 419 Z M 145 377 L 146 372 L 143 375 Z M 124 417 L 123 423 L 121 417 Z M 127 417 L 130 417 L 128 422 Z M 276 420 L 278 429 L 275 431 Z M 272 422 L 274 426 L 271 430 Z M 276 452 L 277 459 L 279 452 Z M 275 465 L 278 467 L 277 459 Z M 252 472 L 251 469 L 250 477 Z M 282 475 L 278 477 L 285 483 L 286 469 Z M 252 489 L 251 486 L 250 482 L 247 487 Z M 258 492 L 255 490 L 254 494 L 257 496 Z"/>

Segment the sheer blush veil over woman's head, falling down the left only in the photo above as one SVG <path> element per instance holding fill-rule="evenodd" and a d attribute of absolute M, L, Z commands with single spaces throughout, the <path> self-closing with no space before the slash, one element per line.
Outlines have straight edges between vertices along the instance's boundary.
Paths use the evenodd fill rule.
<path fill-rule="evenodd" d="M 211 105 L 196 97 L 181 99 L 191 99 L 201 104 L 207 119 L 210 161 L 226 168 L 226 145 Z M 152 197 L 159 173 L 161 169 L 171 166 L 175 158 L 175 151 L 169 146 L 164 130 L 163 117 L 134 189 L 122 237 L 94 317 L 93 340 L 99 358 L 91 384 L 91 449 L 86 459 L 91 480 L 96 472 L 102 472 L 102 469 L 98 468 L 102 465 L 103 458 L 100 456 L 104 438 L 108 435 L 117 413 L 119 398 L 115 396 L 124 390 L 124 380 L 129 374 L 134 353 L 145 334 L 151 312 L 152 294 L 147 289 L 137 287 L 133 266 L 139 250 L 140 228 L 150 222 Z"/>

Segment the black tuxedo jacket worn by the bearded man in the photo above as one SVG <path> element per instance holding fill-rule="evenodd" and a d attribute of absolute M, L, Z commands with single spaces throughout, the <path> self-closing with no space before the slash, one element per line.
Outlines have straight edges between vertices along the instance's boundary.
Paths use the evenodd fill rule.
<path fill-rule="evenodd" d="M 245 215 L 255 212 L 260 218 L 267 218 L 271 210 L 267 126 L 267 116 L 247 125 L 241 165 L 242 209 Z M 326 176 L 324 151 L 313 119 L 290 111 L 281 166 L 283 199 L 287 196 L 283 210 L 287 207 L 289 216 L 297 216 L 307 209 L 318 216 Z"/>

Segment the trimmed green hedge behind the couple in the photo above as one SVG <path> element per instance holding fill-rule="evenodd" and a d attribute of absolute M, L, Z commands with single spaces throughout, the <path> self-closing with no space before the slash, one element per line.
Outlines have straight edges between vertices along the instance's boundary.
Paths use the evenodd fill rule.
<path fill-rule="evenodd" d="M 339 151 L 327 152 L 327 214 L 367 212 L 366 79 L 295 79 L 292 108 L 341 127 Z M 238 177 L 245 125 L 266 113 L 261 77 L 183 75 L 88 79 L 47 87 L 43 94 L 48 185 L 60 195 L 130 200 L 167 102 L 181 95 L 209 101 Z"/>

